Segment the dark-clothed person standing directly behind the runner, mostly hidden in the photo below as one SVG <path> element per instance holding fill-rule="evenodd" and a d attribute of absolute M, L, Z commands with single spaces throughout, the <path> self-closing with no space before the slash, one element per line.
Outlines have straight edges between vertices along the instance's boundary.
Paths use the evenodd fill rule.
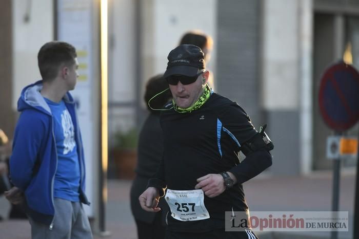
<path fill-rule="evenodd" d="M 136 177 L 131 187 L 131 211 L 137 226 L 138 239 L 161 239 L 165 235 L 165 225 L 161 213 L 154 214 L 144 211 L 138 202 L 139 195 L 146 189 L 148 180 L 153 178 L 163 154 L 162 130 L 159 125 L 161 111 L 153 109 L 162 108 L 172 98 L 168 84 L 163 75 L 150 78 L 146 84 L 144 96 L 149 115 L 139 133 L 137 148 Z M 165 91 L 153 98 L 157 93 Z M 151 100 L 151 98 L 153 98 Z M 166 212 L 166 202 L 159 203 Z"/>

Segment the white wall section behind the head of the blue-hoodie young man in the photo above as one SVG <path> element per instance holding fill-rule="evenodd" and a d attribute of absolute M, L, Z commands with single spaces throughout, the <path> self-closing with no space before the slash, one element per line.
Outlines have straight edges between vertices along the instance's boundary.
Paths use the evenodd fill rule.
<path fill-rule="evenodd" d="M 53 1 L 13 0 L 13 108 L 22 89 L 41 79 L 37 67 L 37 52 L 45 42 L 53 40 Z M 26 13 L 29 21 L 24 21 Z"/>

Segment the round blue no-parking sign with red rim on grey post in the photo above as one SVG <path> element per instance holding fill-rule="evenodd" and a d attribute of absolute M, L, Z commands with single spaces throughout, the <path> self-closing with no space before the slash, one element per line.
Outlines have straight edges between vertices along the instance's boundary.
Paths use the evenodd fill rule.
<path fill-rule="evenodd" d="M 359 120 L 359 73 L 350 65 L 339 62 L 328 68 L 321 79 L 319 91 L 319 106 L 325 123 L 334 130 L 335 136 L 351 128 Z M 340 185 L 340 154 L 334 155 L 338 150 L 337 143 L 332 141 L 327 155 L 333 156 L 333 194 L 332 211 L 338 211 L 339 185 Z M 349 147 L 350 148 L 350 147 Z M 337 156 L 337 157 L 336 157 Z M 357 166 L 358 167 L 358 166 Z M 359 169 L 357 169 L 359 172 Z M 356 175 L 358 178 L 358 175 Z M 356 180 L 358 181 L 358 179 Z M 358 182 L 356 183 L 356 199 L 359 200 Z M 358 203 L 355 203 L 354 225 L 359 224 Z M 357 231 L 354 227 L 354 238 Z M 331 238 L 337 238 L 337 231 L 332 231 Z"/>

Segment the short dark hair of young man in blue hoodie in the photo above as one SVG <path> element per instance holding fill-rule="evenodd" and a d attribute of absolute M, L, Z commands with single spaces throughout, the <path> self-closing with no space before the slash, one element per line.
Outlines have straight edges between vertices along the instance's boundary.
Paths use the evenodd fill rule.
<path fill-rule="evenodd" d="M 43 80 L 56 77 L 59 67 L 63 64 L 71 66 L 77 57 L 76 49 L 64 41 L 47 42 L 37 54 L 38 69 Z"/>

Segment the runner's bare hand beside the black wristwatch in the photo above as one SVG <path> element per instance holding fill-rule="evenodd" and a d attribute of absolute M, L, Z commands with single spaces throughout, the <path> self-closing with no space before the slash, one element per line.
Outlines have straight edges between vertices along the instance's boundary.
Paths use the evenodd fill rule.
<path fill-rule="evenodd" d="M 228 172 L 228 175 L 233 179 L 234 183 L 237 182 L 233 173 Z M 222 175 L 218 173 L 209 173 L 208 175 L 197 179 L 197 182 L 198 183 L 194 188 L 202 188 L 208 198 L 214 198 L 226 190 L 224 179 Z"/>

